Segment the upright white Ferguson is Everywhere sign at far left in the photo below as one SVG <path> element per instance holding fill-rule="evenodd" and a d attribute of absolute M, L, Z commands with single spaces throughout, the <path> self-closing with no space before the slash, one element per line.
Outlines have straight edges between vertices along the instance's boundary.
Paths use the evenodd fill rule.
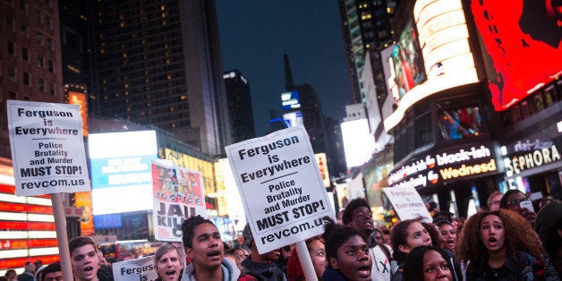
<path fill-rule="evenodd" d="M 8 100 L 15 194 L 88 192 L 80 106 Z"/>

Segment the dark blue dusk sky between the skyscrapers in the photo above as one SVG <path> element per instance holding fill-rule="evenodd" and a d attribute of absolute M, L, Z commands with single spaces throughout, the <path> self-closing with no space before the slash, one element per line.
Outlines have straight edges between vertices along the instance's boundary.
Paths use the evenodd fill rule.
<path fill-rule="evenodd" d="M 269 128 L 269 110 L 282 111 L 283 54 L 294 84 L 310 83 L 325 116 L 342 118 L 351 103 L 336 0 L 217 0 L 223 70 L 250 81 L 256 136 Z"/>

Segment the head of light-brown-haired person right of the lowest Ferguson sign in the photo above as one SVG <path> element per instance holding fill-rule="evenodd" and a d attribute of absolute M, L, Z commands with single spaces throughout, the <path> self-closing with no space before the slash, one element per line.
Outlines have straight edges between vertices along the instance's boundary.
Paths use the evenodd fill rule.
<path fill-rule="evenodd" d="M 183 255 L 173 244 L 164 244 L 154 253 L 157 281 L 178 281 L 182 278 Z"/>

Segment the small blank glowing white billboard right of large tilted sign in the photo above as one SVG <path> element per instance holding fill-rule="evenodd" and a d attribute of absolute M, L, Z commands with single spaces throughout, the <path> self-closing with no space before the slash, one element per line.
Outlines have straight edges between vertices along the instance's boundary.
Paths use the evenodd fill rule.
<path fill-rule="evenodd" d="M 367 118 L 341 124 L 347 167 L 361 166 L 375 151 L 375 138 L 369 133 Z"/>

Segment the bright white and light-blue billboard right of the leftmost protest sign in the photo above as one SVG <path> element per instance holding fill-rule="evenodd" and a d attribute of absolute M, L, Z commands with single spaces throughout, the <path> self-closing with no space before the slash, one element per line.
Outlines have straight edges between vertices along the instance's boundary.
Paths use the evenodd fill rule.
<path fill-rule="evenodd" d="M 152 209 L 155 131 L 89 134 L 93 214 Z"/>

